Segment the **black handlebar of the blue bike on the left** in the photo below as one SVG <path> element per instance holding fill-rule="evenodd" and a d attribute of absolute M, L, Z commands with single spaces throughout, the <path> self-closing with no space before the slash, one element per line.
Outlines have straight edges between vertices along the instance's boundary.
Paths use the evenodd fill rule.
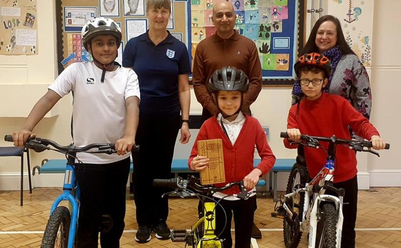
<path fill-rule="evenodd" d="M 8 134 L 4 136 L 4 140 L 8 142 L 13 142 L 13 136 Z M 115 144 L 114 143 L 94 143 L 89 144 L 84 147 L 76 147 L 72 144 L 69 146 L 61 146 L 57 142 L 52 140 L 41 139 L 40 137 L 35 137 L 33 139 L 28 139 L 27 143 L 25 144 L 26 147 L 30 149 L 36 149 L 35 151 L 40 152 L 44 150 L 48 150 L 48 146 L 53 146 L 59 151 L 63 151 L 66 153 L 71 152 L 86 152 L 93 148 L 98 148 L 98 151 L 93 151 L 92 153 L 107 153 L 112 154 L 115 152 Z M 139 146 L 134 145 L 132 151 L 139 151 Z"/>

